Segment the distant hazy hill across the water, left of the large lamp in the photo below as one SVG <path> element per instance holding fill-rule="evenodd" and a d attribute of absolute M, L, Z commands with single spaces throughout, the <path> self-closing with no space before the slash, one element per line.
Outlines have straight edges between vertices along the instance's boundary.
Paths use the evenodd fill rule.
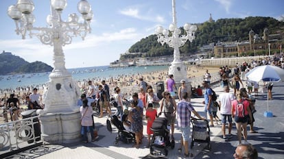
<path fill-rule="evenodd" d="M 52 71 L 52 67 L 43 62 L 27 62 L 19 56 L 10 52 L 0 53 L 0 75 L 13 73 L 42 73 Z"/>

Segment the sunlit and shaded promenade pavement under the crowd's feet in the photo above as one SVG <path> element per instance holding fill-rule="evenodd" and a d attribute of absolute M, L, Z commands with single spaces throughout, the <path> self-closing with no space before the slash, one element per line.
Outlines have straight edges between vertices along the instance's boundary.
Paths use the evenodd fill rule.
<path fill-rule="evenodd" d="M 284 77 L 282 78 L 284 79 Z M 260 86 L 261 86 L 260 82 Z M 259 158 L 284 158 L 284 109 L 283 109 L 283 82 L 275 83 L 273 87 L 273 100 L 269 101 L 270 111 L 274 113 L 274 117 L 267 118 L 263 116 L 263 112 L 267 110 L 267 98 L 265 93 L 259 93 L 256 97 L 255 112 L 255 130 L 256 134 L 248 132 L 248 143 L 256 147 L 259 152 Z M 223 92 L 220 86 L 213 86 L 216 94 Z M 261 89 L 260 89 L 261 90 Z M 230 90 L 233 93 L 233 90 Z M 203 98 L 193 98 L 191 103 L 198 113 L 204 116 Z M 115 108 L 112 109 L 115 112 Z M 219 112 L 217 113 L 220 117 Z M 180 130 L 175 126 L 174 138 L 176 146 L 174 149 L 169 149 L 168 156 L 152 156 L 150 149 L 146 148 L 147 135 L 146 121 L 143 121 L 143 144 L 139 149 L 132 147 L 132 144 L 125 144 L 119 142 L 115 146 L 115 137 L 117 136 L 117 129 L 113 125 L 113 133 L 106 130 L 107 117 L 95 117 L 95 126 L 99 130 L 99 138 L 93 143 L 72 143 L 66 145 L 42 145 L 34 149 L 29 149 L 22 153 L 10 156 L 10 158 L 185 158 L 184 151 L 178 153 L 180 147 Z M 195 143 L 191 153 L 193 158 L 233 158 L 235 148 L 237 147 L 237 131 L 235 124 L 233 125 L 233 138 L 229 141 L 222 139 L 221 125 L 211 127 L 211 151 L 204 149 L 206 143 Z"/>

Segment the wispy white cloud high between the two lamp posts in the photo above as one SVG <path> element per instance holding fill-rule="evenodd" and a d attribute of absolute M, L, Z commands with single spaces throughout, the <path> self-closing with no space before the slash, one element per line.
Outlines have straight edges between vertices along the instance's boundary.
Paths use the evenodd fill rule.
<path fill-rule="evenodd" d="M 126 8 L 124 10 L 119 10 L 120 14 L 123 14 L 125 16 L 130 16 L 135 19 L 140 19 L 143 21 L 154 21 L 156 23 L 164 23 L 165 18 L 161 15 L 153 15 L 153 13 L 147 14 L 147 15 L 141 15 L 139 13 L 138 8 Z"/>

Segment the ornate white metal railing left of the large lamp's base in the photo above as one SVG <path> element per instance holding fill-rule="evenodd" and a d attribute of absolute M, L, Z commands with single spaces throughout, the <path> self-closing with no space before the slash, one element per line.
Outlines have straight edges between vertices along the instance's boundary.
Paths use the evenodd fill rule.
<path fill-rule="evenodd" d="M 0 158 L 15 154 L 15 151 L 32 145 L 40 145 L 38 116 L 29 117 L 0 125 Z M 10 154 L 9 154 L 10 153 Z"/>

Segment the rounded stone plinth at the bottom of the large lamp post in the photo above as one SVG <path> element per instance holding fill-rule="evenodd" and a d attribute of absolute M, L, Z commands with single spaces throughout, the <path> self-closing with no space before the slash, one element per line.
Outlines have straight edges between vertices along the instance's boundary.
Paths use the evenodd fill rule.
<path fill-rule="evenodd" d="M 80 141 L 80 112 L 40 116 L 41 137 L 45 143 L 60 144 Z"/>

